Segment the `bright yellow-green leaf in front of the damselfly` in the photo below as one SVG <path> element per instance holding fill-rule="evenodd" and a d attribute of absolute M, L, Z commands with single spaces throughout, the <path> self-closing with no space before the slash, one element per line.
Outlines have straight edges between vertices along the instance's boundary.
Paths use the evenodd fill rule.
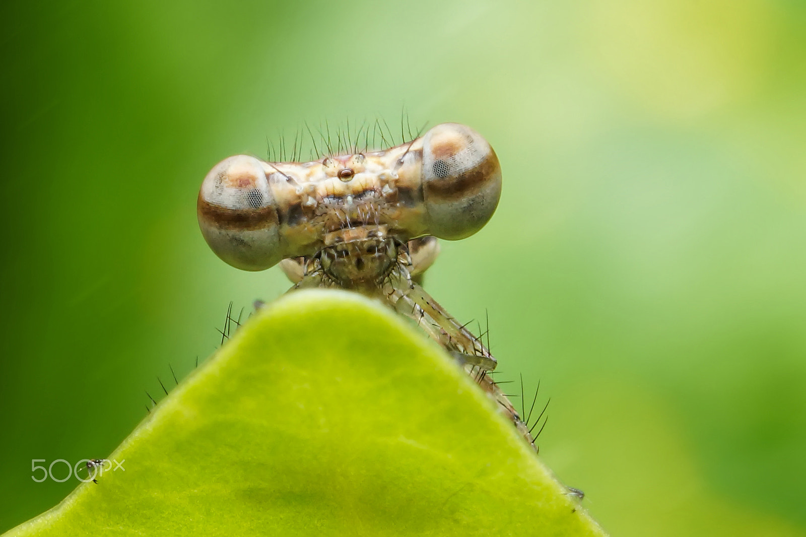
<path fill-rule="evenodd" d="M 604 535 L 434 343 L 355 293 L 253 316 L 7 535 Z"/>

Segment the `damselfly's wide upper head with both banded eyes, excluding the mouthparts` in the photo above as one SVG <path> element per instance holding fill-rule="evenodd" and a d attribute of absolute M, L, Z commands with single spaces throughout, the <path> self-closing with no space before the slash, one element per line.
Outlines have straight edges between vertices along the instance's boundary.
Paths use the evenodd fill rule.
<path fill-rule="evenodd" d="M 500 195 L 501 168 L 487 141 L 442 123 L 382 151 L 305 163 L 231 156 L 207 174 L 197 213 L 222 260 L 263 270 L 314 256 L 334 232 L 358 227 L 381 227 L 398 244 L 463 239 L 488 222 Z"/>

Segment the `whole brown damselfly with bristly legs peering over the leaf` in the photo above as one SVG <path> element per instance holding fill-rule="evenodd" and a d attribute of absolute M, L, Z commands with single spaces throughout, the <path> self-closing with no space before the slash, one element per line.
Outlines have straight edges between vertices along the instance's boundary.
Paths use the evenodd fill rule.
<path fill-rule="evenodd" d="M 323 142 L 331 155 L 322 160 L 239 155 L 217 164 L 198 196 L 207 244 L 240 269 L 279 263 L 293 289 L 352 289 L 412 318 L 534 448 L 526 423 L 487 374 L 496 359 L 418 285 L 439 252 L 437 238 L 463 239 L 492 217 L 501 196 L 495 152 L 458 123 L 381 151 L 334 154 L 329 133 Z M 340 136 L 338 144 L 349 147 Z"/>

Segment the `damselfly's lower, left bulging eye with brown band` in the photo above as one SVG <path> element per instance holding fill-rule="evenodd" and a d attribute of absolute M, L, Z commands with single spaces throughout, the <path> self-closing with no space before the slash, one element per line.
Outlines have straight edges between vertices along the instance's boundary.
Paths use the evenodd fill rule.
<path fill-rule="evenodd" d="M 282 259 L 276 203 L 255 157 L 231 156 L 216 164 L 202 182 L 197 214 L 207 244 L 232 266 L 263 270 Z"/>

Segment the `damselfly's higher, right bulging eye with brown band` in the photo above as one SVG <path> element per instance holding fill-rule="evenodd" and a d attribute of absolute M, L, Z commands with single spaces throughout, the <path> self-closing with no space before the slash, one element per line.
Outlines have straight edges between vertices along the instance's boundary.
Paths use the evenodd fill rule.
<path fill-rule="evenodd" d="M 422 193 L 431 235 L 464 239 L 488 222 L 501 198 L 501 165 L 470 127 L 442 123 L 422 141 Z"/>

